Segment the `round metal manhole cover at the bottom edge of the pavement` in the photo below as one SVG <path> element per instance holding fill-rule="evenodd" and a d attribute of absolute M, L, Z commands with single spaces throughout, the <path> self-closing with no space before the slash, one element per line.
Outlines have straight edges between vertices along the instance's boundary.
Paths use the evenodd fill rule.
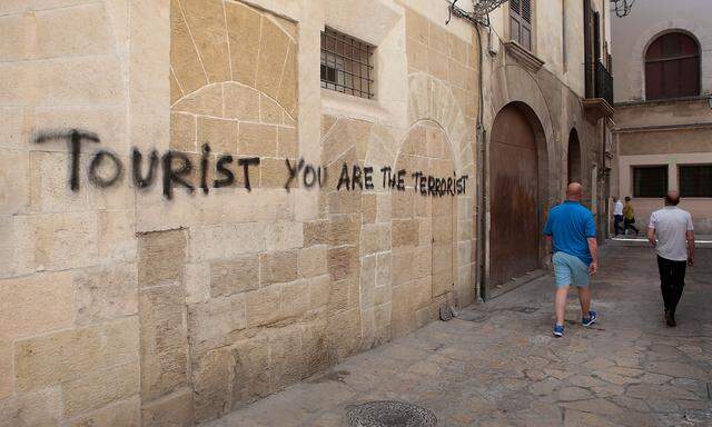
<path fill-rule="evenodd" d="M 347 414 L 352 427 L 434 427 L 433 411 L 395 400 L 377 400 L 352 407 Z"/>

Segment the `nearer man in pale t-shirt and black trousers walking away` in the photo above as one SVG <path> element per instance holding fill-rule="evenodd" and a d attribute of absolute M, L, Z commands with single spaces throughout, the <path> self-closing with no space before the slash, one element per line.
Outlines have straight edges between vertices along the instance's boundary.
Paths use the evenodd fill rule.
<path fill-rule="evenodd" d="M 665 207 L 650 216 L 647 240 L 657 252 L 660 288 L 665 304 L 665 322 L 675 326 L 675 308 L 685 287 L 685 267 L 694 265 L 692 216 L 678 208 L 680 195 L 668 191 Z"/>

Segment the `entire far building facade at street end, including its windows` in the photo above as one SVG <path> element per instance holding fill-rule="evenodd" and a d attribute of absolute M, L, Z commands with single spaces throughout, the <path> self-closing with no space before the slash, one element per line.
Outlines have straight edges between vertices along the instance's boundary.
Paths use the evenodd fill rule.
<path fill-rule="evenodd" d="M 640 4 L 639 4 L 640 3 Z M 699 234 L 712 232 L 712 16 L 701 0 L 645 1 L 613 18 L 616 168 L 637 228 L 679 190 Z"/>

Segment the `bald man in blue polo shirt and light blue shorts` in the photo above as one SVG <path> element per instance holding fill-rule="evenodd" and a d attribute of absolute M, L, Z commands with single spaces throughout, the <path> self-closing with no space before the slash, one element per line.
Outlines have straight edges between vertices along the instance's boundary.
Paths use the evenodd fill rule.
<path fill-rule="evenodd" d="M 591 326 L 596 321 L 596 312 L 590 310 L 589 277 L 599 270 L 599 245 L 593 214 L 581 205 L 582 195 L 581 183 L 570 183 L 566 201 L 552 208 L 544 228 L 547 248 L 552 248 L 556 276 L 555 337 L 564 335 L 564 311 L 571 285 L 578 288 L 583 326 Z"/>

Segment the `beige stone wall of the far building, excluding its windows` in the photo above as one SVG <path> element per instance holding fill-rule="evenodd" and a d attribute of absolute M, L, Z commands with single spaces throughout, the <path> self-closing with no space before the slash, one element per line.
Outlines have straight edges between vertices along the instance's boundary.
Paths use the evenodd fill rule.
<path fill-rule="evenodd" d="M 662 197 L 635 197 L 634 168 L 665 167 L 668 188 L 680 189 L 680 167 L 712 165 L 712 14 L 703 1 L 670 3 L 652 0 L 612 23 L 616 127 L 611 195 L 630 196 L 636 226 L 644 230 Z M 651 100 L 645 87 L 645 52 L 659 37 L 680 32 L 692 37 L 700 56 L 699 92 L 675 99 Z M 630 59 L 630 60 L 629 60 Z M 695 230 L 712 234 L 712 200 L 684 197 L 680 205 L 692 214 Z"/>

